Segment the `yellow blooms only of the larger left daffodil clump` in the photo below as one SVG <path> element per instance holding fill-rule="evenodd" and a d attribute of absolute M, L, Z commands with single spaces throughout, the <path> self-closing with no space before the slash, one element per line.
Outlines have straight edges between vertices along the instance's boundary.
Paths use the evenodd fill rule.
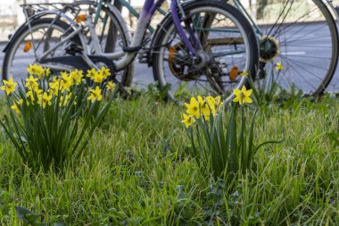
<path fill-rule="evenodd" d="M 87 88 L 87 81 L 83 71 L 75 70 L 70 72 L 61 72 L 59 76 L 51 76 L 49 69 L 44 69 L 38 65 L 29 65 L 29 77 L 24 80 L 23 89 L 24 95 L 21 98 L 17 97 L 12 100 L 11 109 L 16 113 L 21 113 L 21 106 L 40 105 L 44 109 L 46 106 L 57 105 L 64 107 L 68 105 L 71 96 L 79 95 L 77 90 L 80 86 L 84 86 L 87 90 L 87 100 L 91 103 L 103 100 L 103 88 L 114 90 L 115 85 L 112 81 L 107 81 L 111 75 L 110 70 L 103 67 L 101 70 L 95 69 L 87 71 L 87 78 L 94 81 L 93 88 Z M 3 80 L 4 85 L 1 87 L 7 96 L 11 96 L 15 92 L 18 85 L 12 79 Z M 74 102 L 73 105 L 77 103 Z"/>

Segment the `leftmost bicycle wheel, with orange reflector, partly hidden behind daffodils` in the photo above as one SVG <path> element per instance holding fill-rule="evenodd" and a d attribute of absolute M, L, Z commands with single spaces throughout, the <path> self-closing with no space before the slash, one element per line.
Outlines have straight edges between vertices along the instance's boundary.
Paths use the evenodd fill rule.
<path fill-rule="evenodd" d="M 29 64 L 38 63 L 38 56 L 56 46 L 64 36 L 72 31 L 67 23 L 54 21 L 52 24 L 52 21 L 54 20 L 50 18 L 31 21 L 31 32 L 29 26 L 25 25 L 14 34 L 14 39 L 4 54 L 3 80 L 13 78 L 13 80 L 20 81 L 26 78 Z M 65 55 L 65 49 L 70 43 L 79 43 L 79 38 L 72 38 L 47 54 L 46 57 Z"/>

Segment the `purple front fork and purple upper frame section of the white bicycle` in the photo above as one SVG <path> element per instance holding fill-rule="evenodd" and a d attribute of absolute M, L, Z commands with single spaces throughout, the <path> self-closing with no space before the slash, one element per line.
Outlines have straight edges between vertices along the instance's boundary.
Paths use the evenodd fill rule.
<path fill-rule="evenodd" d="M 145 0 L 145 4 L 144 4 L 144 7 L 143 7 L 142 12 L 140 14 L 139 20 L 142 21 L 142 22 L 144 21 L 144 23 L 145 23 L 145 21 L 147 21 L 147 24 L 148 24 L 151 21 L 151 18 L 153 17 L 153 14 L 155 13 L 156 9 L 158 7 L 160 7 L 161 4 L 163 4 L 164 1 L 165 0 L 156 0 L 156 2 L 154 3 L 154 0 Z M 188 47 L 191 54 L 196 56 L 196 51 L 194 49 L 194 46 L 189 41 L 189 39 L 186 37 L 185 31 L 181 27 L 180 16 L 179 16 L 178 11 L 177 11 L 178 4 L 179 4 L 178 0 L 172 0 L 172 2 L 170 4 L 170 13 L 172 15 L 174 25 L 175 25 L 175 27 L 178 31 L 179 37 L 182 39 L 182 41 Z M 186 26 L 188 26 L 188 25 L 186 24 Z M 190 26 L 188 26 L 186 29 L 187 29 L 187 31 L 190 35 L 190 38 L 192 38 L 192 40 L 194 41 L 195 46 L 200 46 L 200 42 L 194 36 L 193 29 Z"/>

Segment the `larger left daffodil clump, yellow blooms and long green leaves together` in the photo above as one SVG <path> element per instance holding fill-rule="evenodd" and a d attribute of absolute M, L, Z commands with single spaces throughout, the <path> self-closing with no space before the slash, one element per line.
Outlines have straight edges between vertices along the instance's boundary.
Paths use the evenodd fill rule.
<path fill-rule="evenodd" d="M 72 155 L 80 155 L 115 97 L 110 75 L 104 67 L 87 74 L 75 70 L 52 75 L 29 65 L 21 86 L 3 80 L 11 110 L 0 124 L 25 163 L 37 172 L 40 167 L 62 169 Z M 103 92 L 113 89 L 103 102 Z"/>

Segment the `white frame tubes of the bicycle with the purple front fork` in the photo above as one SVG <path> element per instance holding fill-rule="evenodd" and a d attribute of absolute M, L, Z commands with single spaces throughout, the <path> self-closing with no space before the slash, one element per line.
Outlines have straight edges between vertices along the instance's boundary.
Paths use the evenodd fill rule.
<path fill-rule="evenodd" d="M 159 0 L 157 3 L 159 3 L 159 2 L 162 2 L 162 1 Z M 120 24 L 120 26 L 123 29 L 122 32 L 125 33 L 124 35 L 129 36 L 129 32 L 128 32 L 126 22 L 124 21 L 124 19 L 120 15 L 120 12 L 112 4 L 107 4 L 107 7 L 112 13 L 114 13 L 116 19 L 118 20 L 117 22 Z M 30 29 L 29 32 L 31 34 L 33 33 L 33 30 L 31 29 L 30 21 L 35 20 L 39 17 L 44 17 L 45 15 L 55 15 L 55 19 L 54 19 L 55 21 L 59 20 L 59 19 L 63 19 L 65 21 L 68 21 L 70 23 L 70 27 L 73 29 L 73 31 L 69 35 L 67 35 L 67 37 L 62 38 L 62 40 L 58 44 L 56 44 L 55 46 L 48 49 L 41 56 L 37 56 L 37 54 L 35 53 L 37 63 L 44 60 L 49 54 L 53 53 L 58 47 L 69 42 L 70 39 L 72 39 L 76 36 L 78 36 L 80 38 L 81 46 L 84 48 L 83 54 L 79 54 L 79 56 L 81 56 L 82 59 L 91 68 L 98 69 L 97 66 L 95 65 L 95 63 L 93 63 L 90 60 L 90 58 L 89 58 L 89 55 L 91 55 L 90 53 L 95 53 L 95 56 L 102 56 L 102 57 L 105 57 L 105 58 L 109 58 L 112 61 L 117 61 L 117 62 L 115 62 L 116 71 L 120 71 L 120 70 L 124 69 L 126 66 L 128 66 L 128 64 L 131 63 L 134 60 L 134 58 L 137 54 L 137 51 L 125 52 L 123 50 L 118 51 L 118 52 L 114 52 L 114 53 L 103 53 L 101 46 L 100 46 L 99 38 L 97 37 L 97 35 L 95 33 L 95 24 L 92 21 L 91 15 L 87 16 L 87 21 L 85 23 L 77 24 L 74 20 L 72 20 L 64 12 L 43 11 L 43 12 L 35 14 L 33 18 L 29 18 L 29 15 L 26 13 L 27 25 L 29 26 L 29 29 Z M 140 15 L 140 19 L 137 22 L 136 35 L 133 37 L 130 46 L 133 47 L 133 46 L 141 46 L 142 45 L 143 40 L 144 40 L 144 35 L 145 35 L 146 30 L 147 30 L 148 23 L 151 20 L 152 16 L 153 16 L 153 14 L 150 14 L 147 10 L 143 10 L 143 12 Z M 51 23 L 50 28 L 52 26 L 53 26 L 53 22 Z M 48 29 L 50 29 L 50 28 L 48 28 Z M 47 29 L 47 32 L 48 32 L 48 29 Z M 89 44 L 87 43 L 87 38 L 83 33 L 84 29 L 88 29 L 89 33 L 91 35 L 91 42 Z M 44 35 L 43 38 L 45 38 L 45 35 Z M 43 38 L 41 38 L 41 40 L 36 44 L 34 42 L 34 38 L 32 36 L 33 48 L 34 48 L 35 51 L 36 51 L 37 47 L 41 44 L 41 41 L 43 40 Z M 43 67 L 50 68 L 52 70 L 58 70 L 58 71 L 70 71 L 70 70 L 73 69 L 73 68 L 70 68 L 69 66 L 63 66 L 63 65 L 61 66 L 61 65 L 54 65 L 54 64 L 48 64 L 48 63 L 40 63 L 40 65 L 43 66 Z"/>

